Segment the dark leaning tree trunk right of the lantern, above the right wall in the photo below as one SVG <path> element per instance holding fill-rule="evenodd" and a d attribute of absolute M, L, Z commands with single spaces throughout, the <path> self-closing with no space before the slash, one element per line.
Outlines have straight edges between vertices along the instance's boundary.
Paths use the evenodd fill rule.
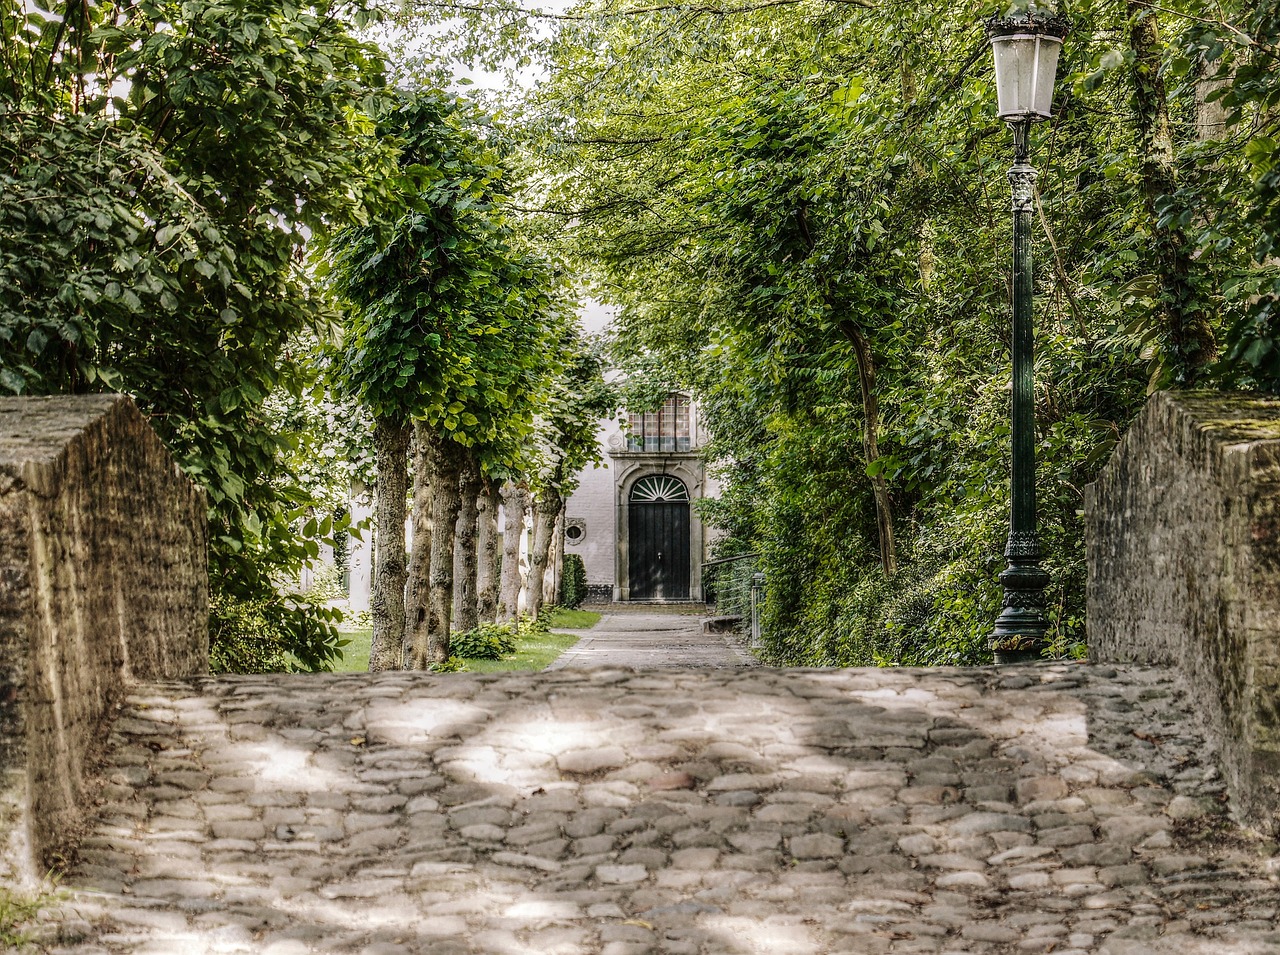
<path fill-rule="evenodd" d="M 1160 72 L 1161 41 L 1156 12 L 1143 0 L 1128 0 L 1133 49 L 1133 104 L 1140 161 L 1142 195 L 1151 224 L 1151 253 L 1161 287 L 1160 311 L 1165 355 L 1153 376 L 1157 385 L 1194 385 L 1213 361 L 1217 346 L 1204 300 L 1193 277 L 1196 248 L 1166 205 L 1178 192 L 1169 91 Z M 1164 224 L 1161 224 L 1164 223 Z"/>

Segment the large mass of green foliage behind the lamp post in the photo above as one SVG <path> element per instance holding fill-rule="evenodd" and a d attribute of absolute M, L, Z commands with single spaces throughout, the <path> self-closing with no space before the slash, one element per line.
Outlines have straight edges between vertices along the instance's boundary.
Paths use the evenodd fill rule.
<path fill-rule="evenodd" d="M 1012 157 L 989 13 L 582 3 L 554 44 L 531 123 L 554 183 L 544 228 L 620 307 L 628 397 L 660 380 L 699 399 L 723 486 L 703 516 L 730 534 L 724 553 L 762 553 L 777 662 L 987 658 L 1009 512 Z M 1280 361 L 1266 257 L 1280 81 L 1271 12 L 1070 14 L 1057 115 L 1033 136 L 1034 283 L 1051 636 L 1079 654 L 1083 488 L 1148 389 L 1268 387 Z M 890 579 L 872 476 L 896 515 Z"/>

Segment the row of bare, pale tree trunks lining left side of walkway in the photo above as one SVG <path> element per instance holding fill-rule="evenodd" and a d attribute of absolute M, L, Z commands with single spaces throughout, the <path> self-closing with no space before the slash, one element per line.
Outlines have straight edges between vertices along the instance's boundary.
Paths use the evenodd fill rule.
<path fill-rule="evenodd" d="M 429 670 L 449 659 L 449 635 L 481 623 L 536 617 L 553 593 L 561 559 L 556 533 L 564 501 L 536 497 L 516 480 L 485 474 L 476 448 L 439 434 L 379 419 L 374 426 L 375 490 L 374 636 L 369 670 Z M 413 460 L 413 549 L 406 561 L 408 461 Z M 499 533 L 499 506 L 506 525 Z M 532 510 L 527 572 L 520 543 Z"/>

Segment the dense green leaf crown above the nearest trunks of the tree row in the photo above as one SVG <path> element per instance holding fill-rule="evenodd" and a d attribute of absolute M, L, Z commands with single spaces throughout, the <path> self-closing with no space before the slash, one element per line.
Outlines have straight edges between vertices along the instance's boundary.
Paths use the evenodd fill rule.
<path fill-rule="evenodd" d="M 396 201 L 339 232 L 323 271 L 355 306 L 339 389 L 375 417 L 425 420 L 509 462 L 532 429 L 568 300 L 550 265 L 517 247 L 500 211 L 506 170 L 479 123 L 430 91 L 383 116 Z"/>

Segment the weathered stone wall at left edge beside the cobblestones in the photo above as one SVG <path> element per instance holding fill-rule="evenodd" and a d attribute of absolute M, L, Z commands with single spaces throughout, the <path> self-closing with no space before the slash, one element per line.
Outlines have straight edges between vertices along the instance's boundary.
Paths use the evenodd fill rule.
<path fill-rule="evenodd" d="M 0 882 L 74 837 L 128 684 L 206 671 L 206 534 L 128 398 L 0 398 Z"/>

